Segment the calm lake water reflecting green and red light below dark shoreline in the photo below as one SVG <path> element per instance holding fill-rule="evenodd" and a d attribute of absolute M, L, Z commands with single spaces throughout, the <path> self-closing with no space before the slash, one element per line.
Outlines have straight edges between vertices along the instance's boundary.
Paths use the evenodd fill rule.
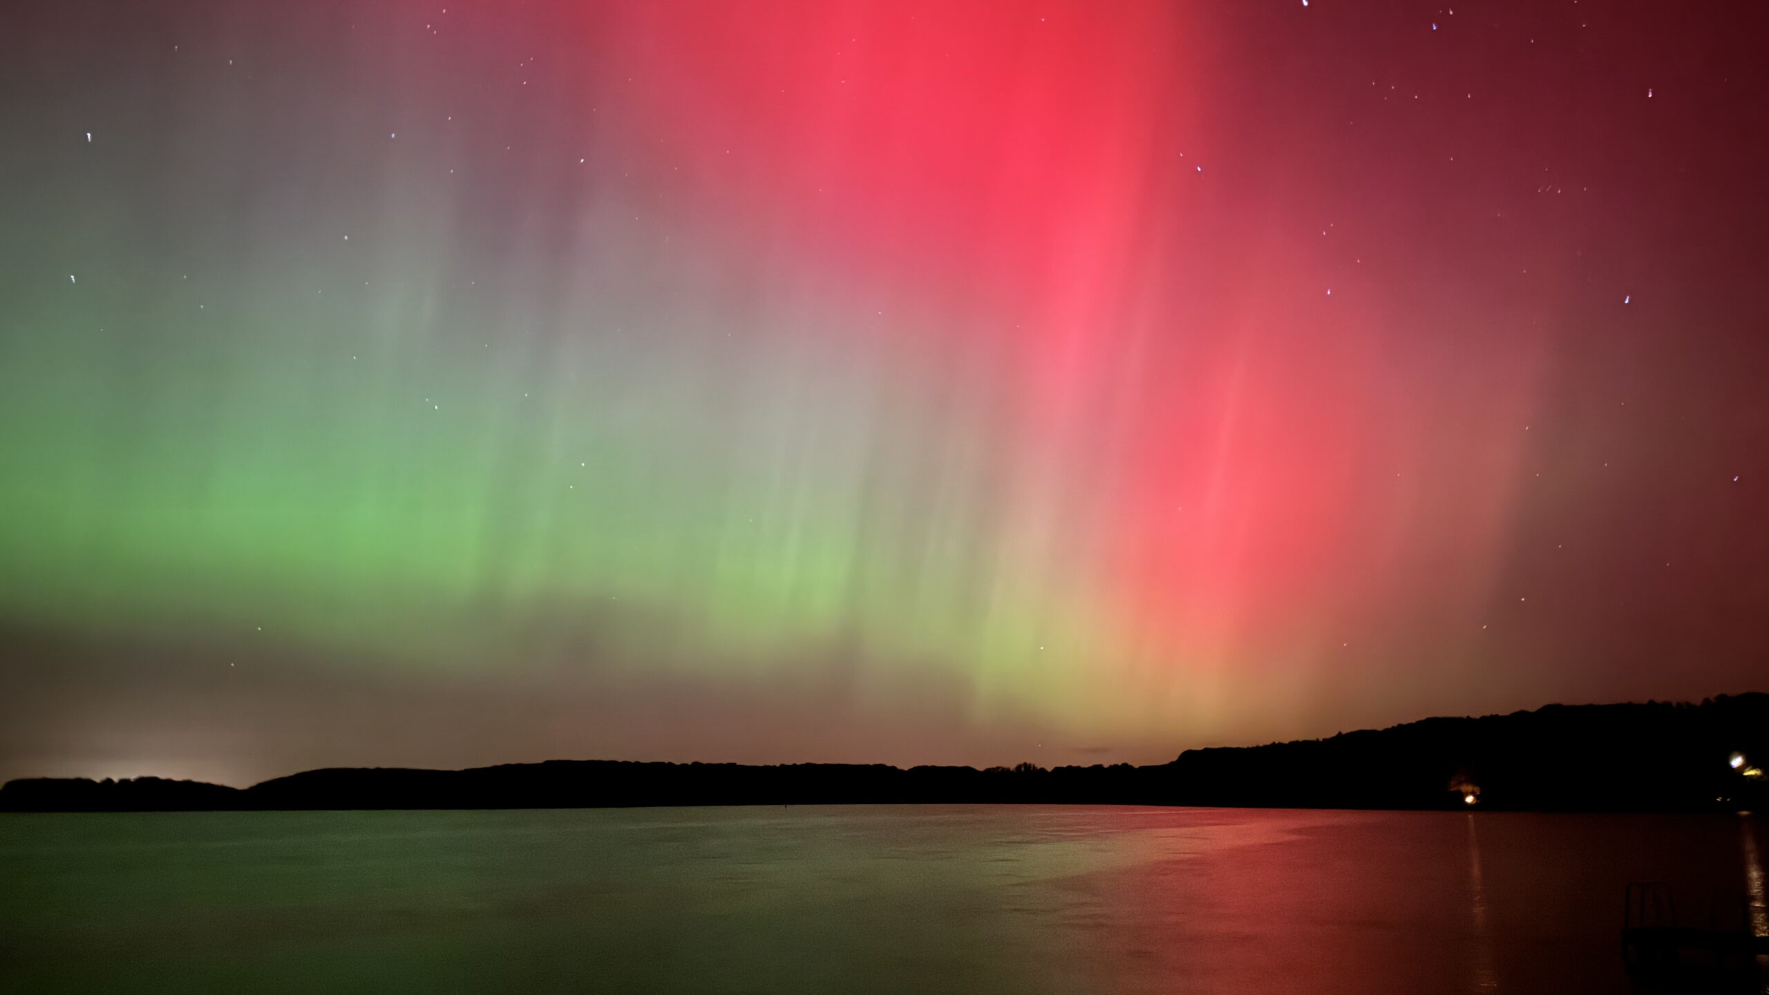
<path fill-rule="evenodd" d="M 5 991 L 1627 991 L 1741 816 L 1132 807 L 0 816 Z"/>

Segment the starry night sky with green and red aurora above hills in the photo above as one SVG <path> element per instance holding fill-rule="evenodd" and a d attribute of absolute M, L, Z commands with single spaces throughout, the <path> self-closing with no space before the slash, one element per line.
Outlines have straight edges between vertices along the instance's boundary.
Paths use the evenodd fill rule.
<path fill-rule="evenodd" d="M 1769 5 L 0 5 L 0 777 L 1769 689 Z"/>

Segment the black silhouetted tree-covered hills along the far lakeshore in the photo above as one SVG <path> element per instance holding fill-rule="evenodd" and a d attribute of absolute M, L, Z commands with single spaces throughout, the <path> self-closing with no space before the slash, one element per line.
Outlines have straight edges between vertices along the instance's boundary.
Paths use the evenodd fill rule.
<path fill-rule="evenodd" d="M 506 809 L 782 804 L 1137 804 L 1352 809 L 1764 807 L 1769 694 L 1548 705 L 1323 740 L 1191 749 L 1171 763 L 911 767 L 550 760 L 472 770 L 327 768 L 251 788 L 35 777 L 9 811 Z"/>

